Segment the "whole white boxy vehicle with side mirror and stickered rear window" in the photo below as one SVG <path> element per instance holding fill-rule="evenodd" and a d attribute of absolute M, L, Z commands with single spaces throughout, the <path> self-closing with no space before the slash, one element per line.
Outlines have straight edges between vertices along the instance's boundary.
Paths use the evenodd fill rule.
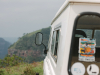
<path fill-rule="evenodd" d="M 36 44 L 43 44 L 41 33 Z M 65 1 L 51 22 L 43 69 L 44 75 L 100 75 L 100 0 Z"/>

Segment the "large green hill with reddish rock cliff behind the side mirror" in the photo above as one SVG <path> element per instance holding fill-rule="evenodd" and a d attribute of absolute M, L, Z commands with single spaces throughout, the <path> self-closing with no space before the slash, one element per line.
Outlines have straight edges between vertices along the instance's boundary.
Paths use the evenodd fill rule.
<path fill-rule="evenodd" d="M 9 47 L 8 54 L 16 54 L 25 57 L 29 62 L 42 60 L 44 46 L 35 45 L 35 36 L 37 32 L 43 33 L 43 43 L 47 46 L 50 27 L 27 33 L 19 37 L 18 41 Z"/>

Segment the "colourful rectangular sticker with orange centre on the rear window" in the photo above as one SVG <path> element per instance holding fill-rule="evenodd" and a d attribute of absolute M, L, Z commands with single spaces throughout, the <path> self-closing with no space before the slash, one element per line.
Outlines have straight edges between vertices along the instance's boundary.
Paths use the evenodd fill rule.
<path fill-rule="evenodd" d="M 95 45 L 94 39 L 79 39 L 79 61 L 95 61 Z"/>

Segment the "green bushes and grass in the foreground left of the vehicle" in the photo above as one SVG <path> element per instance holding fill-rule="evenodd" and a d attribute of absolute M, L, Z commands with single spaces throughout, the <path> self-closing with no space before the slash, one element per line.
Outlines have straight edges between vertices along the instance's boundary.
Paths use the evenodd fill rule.
<path fill-rule="evenodd" d="M 0 59 L 0 75 L 43 75 L 42 61 L 28 64 L 23 60 L 16 55 L 7 55 L 3 60 Z"/>

